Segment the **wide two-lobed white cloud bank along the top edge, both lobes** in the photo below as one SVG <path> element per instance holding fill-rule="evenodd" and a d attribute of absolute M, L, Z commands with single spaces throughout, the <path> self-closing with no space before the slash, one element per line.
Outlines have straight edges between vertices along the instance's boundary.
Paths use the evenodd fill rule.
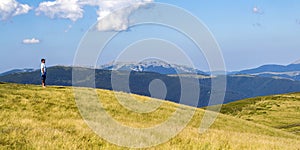
<path fill-rule="evenodd" d="M 55 0 L 40 3 L 36 13 L 37 15 L 43 13 L 50 18 L 65 18 L 76 21 L 83 17 L 84 6 L 95 6 L 98 8 L 97 20 L 99 22 L 97 27 L 99 30 L 122 31 L 127 30 L 129 26 L 128 17 L 137 9 L 151 2 L 153 0 Z M 112 12 L 128 6 L 132 7 L 112 14 Z"/>

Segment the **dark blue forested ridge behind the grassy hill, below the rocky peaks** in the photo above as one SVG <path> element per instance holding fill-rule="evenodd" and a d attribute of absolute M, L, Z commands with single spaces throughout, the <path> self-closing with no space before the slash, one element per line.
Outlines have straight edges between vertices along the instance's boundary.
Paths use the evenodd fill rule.
<path fill-rule="evenodd" d="M 198 107 L 208 105 L 208 100 L 211 93 L 211 77 L 204 77 L 201 75 L 166 75 L 155 72 L 136 72 L 136 71 L 111 71 L 101 69 L 88 69 L 88 68 L 72 68 L 55 66 L 47 69 L 47 84 L 48 85 L 64 85 L 72 86 L 72 69 L 79 69 L 80 71 L 95 71 L 95 84 L 96 88 L 112 90 L 111 73 L 116 74 L 118 83 L 122 83 L 126 78 L 126 74 L 130 74 L 129 87 L 130 92 L 145 96 L 151 96 L 149 92 L 149 84 L 154 79 L 162 80 L 167 88 L 166 100 L 179 103 L 181 97 L 181 84 L 180 77 L 184 78 L 187 82 L 197 79 L 200 84 L 200 98 Z M 85 81 L 92 82 L 92 74 L 90 76 L 80 76 L 80 72 L 77 75 L 82 78 L 82 84 L 78 86 L 88 86 Z M 40 84 L 40 71 L 24 72 L 10 74 L 0 77 L 2 82 L 14 82 L 22 84 Z M 122 89 L 114 89 L 122 90 Z M 126 91 L 125 91 L 126 92 Z M 127 91 L 128 92 L 128 91 Z M 230 75 L 227 76 L 227 89 L 225 91 L 224 103 L 272 94 L 282 94 L 289 92 L 300 92 L 300 81 L 293 81 L 287 79 L 275 79 L 251 75 Z M 192 94 L 192 93 L 191 93 Z M 187 105 L 189 105 L 187 103 Z"/>

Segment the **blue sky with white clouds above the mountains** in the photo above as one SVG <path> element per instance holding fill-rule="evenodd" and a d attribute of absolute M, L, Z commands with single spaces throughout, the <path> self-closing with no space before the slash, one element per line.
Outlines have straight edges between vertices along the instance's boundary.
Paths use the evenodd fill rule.
<path fill-rule="evenodd" d="M 41 58 L 46 58 L 48 66 L 72 65 L 92 26 L 99 32 L 121 32 L 119 41 L 112 42 L 99 58 L 99 65 L 116 59 L 130 43 L 142 40 L 143 36 L 137 36 L 142 34 L 181 45 L 199 69 L 207 70 L 205 57 L 194 53 L 195 45 L 179 33 L 159 26 L 130 26 L 129 16 L 138 9 L 151 9 L 146 6 L 154 2 L 182 8 L 205 24 L 220 46 L 228 71 L 287 65 L 300 59 L 299 0 L 1 0 L 0 73 L 38 68 Z M 127 5 L 134 7 L 107 17 Z M 107 21 L 101 23 L 105 17 Z M 132 47 L 142 52 L 150 50 L 146 46 Z"/>

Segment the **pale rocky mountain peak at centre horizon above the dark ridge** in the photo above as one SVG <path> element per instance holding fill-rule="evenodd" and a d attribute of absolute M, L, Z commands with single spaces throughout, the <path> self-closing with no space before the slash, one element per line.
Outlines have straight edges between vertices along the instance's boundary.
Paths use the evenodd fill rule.
<path fill-rule="evenodd" d="M 168 64 L 160 60 L 146 60 L 139 63 L 117 62 L 102 65 L 99 69 L 119 70 L 119 71 L 137 71 L 137 72 L 156 72 L 160 74 L 188 74 L 197 73 L 208 75 L 207 73 L 183 65 Z"/>

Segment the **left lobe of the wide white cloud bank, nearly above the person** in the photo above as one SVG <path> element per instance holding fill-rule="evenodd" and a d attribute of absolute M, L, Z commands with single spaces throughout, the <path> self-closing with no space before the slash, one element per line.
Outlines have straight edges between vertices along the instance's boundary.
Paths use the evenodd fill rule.
<path fill-rule="evenodd" d="M 56 0 L 39 4 L 36 14 L 45 14 L 50 18 L 65 18 L 76 21 L 83 17 L 83 9 L 79 0 Z"/>

